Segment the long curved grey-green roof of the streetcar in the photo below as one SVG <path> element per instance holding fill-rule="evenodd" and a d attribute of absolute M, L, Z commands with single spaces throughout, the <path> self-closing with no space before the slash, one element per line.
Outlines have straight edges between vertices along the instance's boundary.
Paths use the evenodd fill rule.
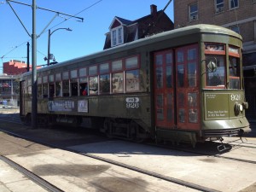
<path fill-rule="evenodd" d="M 81 56 L 78 58 L 74 58 L 72 60 L 62 61 L 60 63 L 56 63 L 55 65 L 51 65 L 49 67 L 40 68 L 40 69 L 38 69 L 38 71 L 43 72 L 43 71 L 47 71 L 49 69 L 53 69 L 55 67 L 64 67 L 66 65 L 71 65 L 73 63 L 90 60 L 90 59 L 93 59 L 96 57 L 100 57 L 100 56 L 104 56 L 104 55 L 111 55 L 113 53 L 123 51 L 125 49 L 132 49 L 134 47 L 140 47 L 143 45 L 152 44 L 152 43 L 159 42 L 159 41 L 164 41 L 166 39 L 178 38 L 178 37 L 191 35 L 191 34 L 195 34 L 195 33 L 225 34 L 225 35 L 229 35 L 229 36 L 233 36 L 235 38 L 241 39 L 241 35 L 239 35 L 236 32 L 233 32 L 230 29 L 227 29 L 223 26 L 214 26 L 214 25 L 207 25 L 207 24 L 184 26 L 184 27 L 177 28 L 177 29 L 174 29 L 171 31 L 161 32 L 161 33 L 149 36 L 147 38 L 141 38 L 141 39 L 138 39 L 136 41 L 133 41 L 133 42 L 130 42 L 127 44 L 121 44 L 121 45 L 118 45 L 118 46 L 110 48 L 110 49 L 104 49 L 102 51 L 92 53 L 90 55 L 84 55 L 84 56 Z M 30 74 L 30 73 L 32 73 L 32 72 L 25 73 L 25 74 Z"/>

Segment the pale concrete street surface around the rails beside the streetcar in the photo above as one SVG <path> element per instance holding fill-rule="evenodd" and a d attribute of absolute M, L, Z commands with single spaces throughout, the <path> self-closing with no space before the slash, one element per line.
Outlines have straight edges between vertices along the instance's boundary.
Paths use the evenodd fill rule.
<path fill-rule="evenodd" d="M 247 137 L 247 143 L 233 147 L 229 152 L 220 154 L 224 158 L 218 158 L 119 140 L 102 139 L 93 142 L 90 137 L 82 135 L 73 137 L 71 133 L 61 135 L 60 131 L 49 129 L 29 130 L 21 126 L 8 128 L 27 133 L 30 137 L 42 137 L 42 139 L 48 137 L 48 141 L 62 137 L 61 143 L 67 141 L 65 147 L 80 153 L 45 147 L 0 132 L 1 155 L 64 191 L 196 191 L 158 177 L 84 156 L 83 153 L 154 172 L 164 177 L 195 183 L 212 191 L 256 191 L 256 164 L 252 163 L 256 160 L 256 138 L 253 135 Z M 55 136 L 51 138 L 51 135 Z M 71 142 L 75 138 L 79 140 L 77 144 Z M 233 139 L 225 138 L 225 141 L 233 141 Z M 1 160 L 0 167 L 1 192 L 44 191 Z M 20 188 L 21 183 L 26 190 Z"/>

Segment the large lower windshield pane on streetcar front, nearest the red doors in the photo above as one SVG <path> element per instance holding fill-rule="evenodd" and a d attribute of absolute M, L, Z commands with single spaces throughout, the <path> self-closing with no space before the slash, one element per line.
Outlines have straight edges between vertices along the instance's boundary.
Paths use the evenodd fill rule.
<path fill-rule="evenodd" d="M 211 55 L 211 56 L 207 56 L 206 60 L 210 61 L 212 56 L 217 59 L 217 70 L 212 73 L 206 73 L 207 86 L 222 86 L 222 87 L 224 87 L 224 83 L 225 83 L 224 56 L 223 55 Z M 206 65 L 207 65 L 207 62 L 206 62 Z M 206 68 L 207 68 L 207 66 L 206 66 Z"/>

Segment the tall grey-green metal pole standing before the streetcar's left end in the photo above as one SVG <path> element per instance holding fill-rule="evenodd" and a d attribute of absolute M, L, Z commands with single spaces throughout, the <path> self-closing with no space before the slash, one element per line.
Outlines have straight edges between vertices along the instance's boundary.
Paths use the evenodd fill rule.
<path fill-rule="evenodd" d="M 32 1 L 32 129 L 38 128 L 36 0 Z"/>

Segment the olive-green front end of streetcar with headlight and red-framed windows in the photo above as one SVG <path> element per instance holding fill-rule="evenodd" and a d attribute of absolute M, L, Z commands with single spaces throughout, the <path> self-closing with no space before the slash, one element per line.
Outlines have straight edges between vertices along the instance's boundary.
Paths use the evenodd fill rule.
<path fill-rule="evenodd" d="M 251 131 L 246 118 L 241 48 L 233 44 L 204 44 L 201 137 L 241 137 Z"/>

